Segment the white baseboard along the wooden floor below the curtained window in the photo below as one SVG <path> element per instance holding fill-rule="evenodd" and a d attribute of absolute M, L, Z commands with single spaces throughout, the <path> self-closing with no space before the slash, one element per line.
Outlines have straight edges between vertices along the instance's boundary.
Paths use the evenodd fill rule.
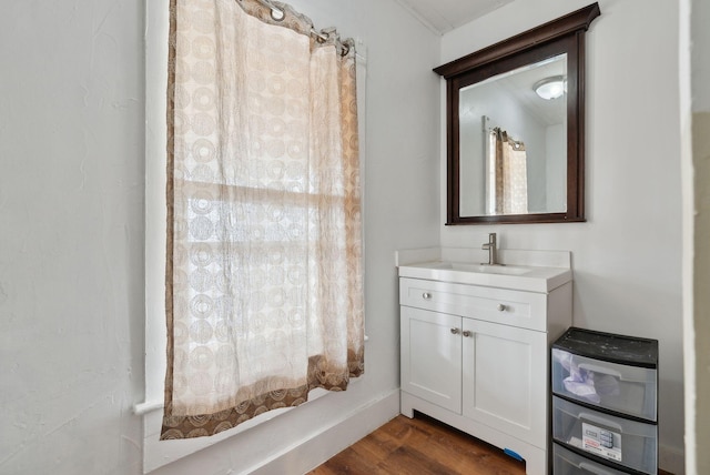
<path fill-rule="evenodd" d="M 331 426 L 292 445 L 244 474 L 306 473 L 349 447 L 399 414 L 399 390 L 393 390 L 335 420 Z"/>

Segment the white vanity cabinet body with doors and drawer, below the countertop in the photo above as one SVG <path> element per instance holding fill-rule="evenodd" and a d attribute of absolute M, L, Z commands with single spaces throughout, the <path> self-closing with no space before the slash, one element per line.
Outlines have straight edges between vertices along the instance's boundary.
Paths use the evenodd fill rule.
<path fill-rule="evenodd" d="M 419 411 L 547 474 L 549 346 L 571 325 L 571 280 L 530 292 L 400 276 L 399 301 L 402 414 Z"/>

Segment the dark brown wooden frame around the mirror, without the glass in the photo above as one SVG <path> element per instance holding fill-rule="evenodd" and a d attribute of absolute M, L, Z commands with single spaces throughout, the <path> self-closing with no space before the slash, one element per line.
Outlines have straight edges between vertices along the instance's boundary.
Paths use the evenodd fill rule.
<path fill-rule="evenodd" d="M 598 3 L 434 69 L 446 79 L 446 225 L 568 223 L 585 219 L 585 33 Z M 494 75 L 567 53 L 567 211 L 462 216 L 459 211 L 459 90 Z"/>

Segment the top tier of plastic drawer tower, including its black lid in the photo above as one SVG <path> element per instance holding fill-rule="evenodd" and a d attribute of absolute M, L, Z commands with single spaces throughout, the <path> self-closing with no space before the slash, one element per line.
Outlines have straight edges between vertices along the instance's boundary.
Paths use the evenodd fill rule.
<path fill-rule="evenodd" d="M 658 342 L 570 329 L 552 345 L 552 392 L 656 422 Z"/>

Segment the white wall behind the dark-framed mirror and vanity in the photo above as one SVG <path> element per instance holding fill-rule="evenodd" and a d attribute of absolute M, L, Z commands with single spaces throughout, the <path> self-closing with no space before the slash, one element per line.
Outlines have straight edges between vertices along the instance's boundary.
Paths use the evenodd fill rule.
<path fill-rule="evenodd" d="M 442 63 L 589 3 L 507 4 L 444 36 Z M 587 34 L 588 221 L 447 226 L 442 229 L 442 244 L 479 246 L 488 232 L 497 232 L 503 247 L 572 251 L 575 325 L 660 342 L 660 466 L 681 473 L 678 4 L 667 0 L 599 0 L 599 4 L 601 16 Z"/>

